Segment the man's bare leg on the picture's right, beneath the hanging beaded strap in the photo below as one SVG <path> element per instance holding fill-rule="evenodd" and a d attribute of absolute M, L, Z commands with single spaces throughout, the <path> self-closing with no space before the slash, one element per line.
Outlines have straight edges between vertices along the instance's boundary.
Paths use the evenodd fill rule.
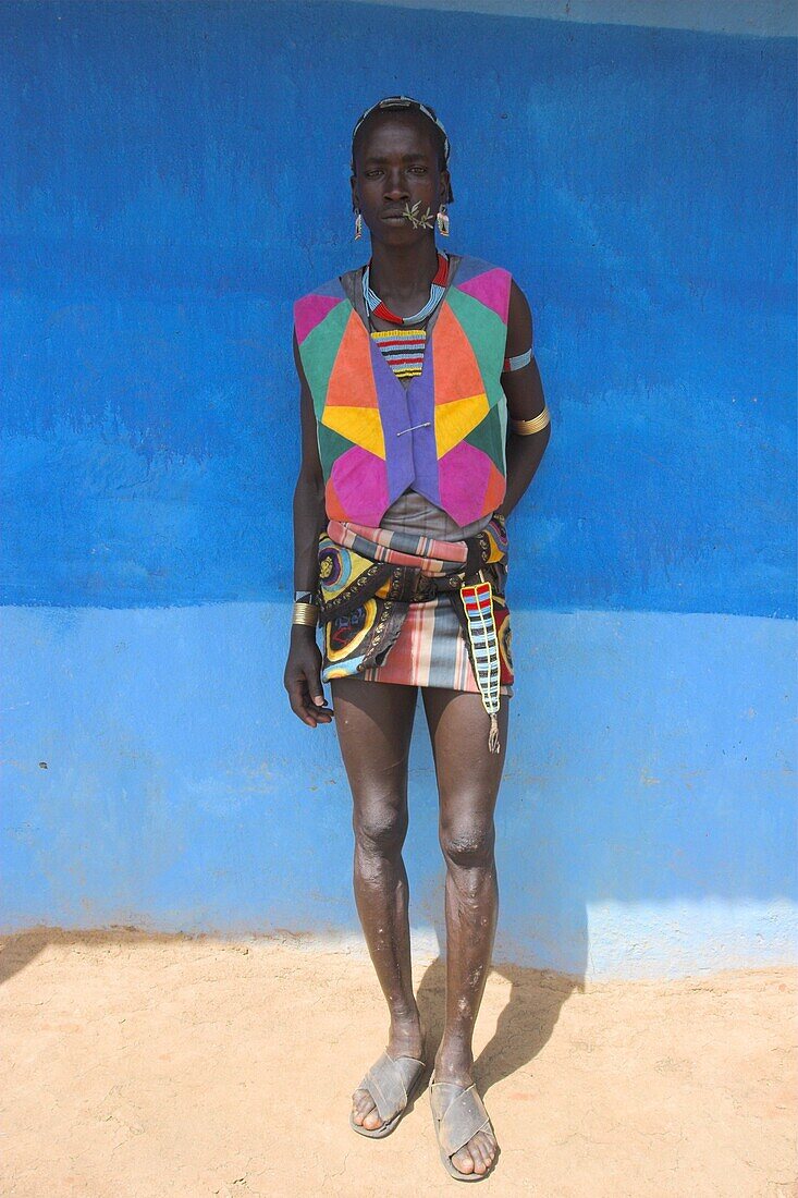
<path fill-rule="evenodd" d="M 473 1025 L 496 931 L 498 889 L 494 809 L 507 746 L 508 701 L 498 715 L 501 752 L 488 751 L 489 718 L 477 694 L 423 691 L 440 794 L 440 837 L 446 859 L 446 1025 L 435 1081 L 473 1082 Z M 496 1142 L 478 1132 L 455 1152 L 461 1173 L 485 1173 Z"/>

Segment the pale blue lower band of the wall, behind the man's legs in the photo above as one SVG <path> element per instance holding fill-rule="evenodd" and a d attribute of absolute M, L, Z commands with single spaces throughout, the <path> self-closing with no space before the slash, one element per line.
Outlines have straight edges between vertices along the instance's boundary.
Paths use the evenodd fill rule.
<path fill-rule="evenodd" d="M 346 774 L 334 728 L 289 712 L 286 622 L 0 610 L 1 932 L 357 927 Z M 793 961 L 794 622 L 516 611 L 513 653 L 494 960 L 592 979 Z M 421 703 L 409 789 L 413 932 L 442 946 Z"/>

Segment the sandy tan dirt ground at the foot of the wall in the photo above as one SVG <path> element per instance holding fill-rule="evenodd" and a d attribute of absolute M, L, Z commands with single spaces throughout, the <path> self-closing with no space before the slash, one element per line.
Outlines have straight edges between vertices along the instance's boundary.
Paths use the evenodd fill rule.
<path fill-rule="evenodd" d="M 0 940 L 4 1198 L 452 1194 L 427 1095 L 385 1140 L 349 1095 L 385 1043 L 359 951 L 41 931 Z M 417 962 L 430 1037 L 440 961 Z M 580 985 L 498 967 L 477 1081 L 480 1193 L 787 1198 L 796 973 Z"/>

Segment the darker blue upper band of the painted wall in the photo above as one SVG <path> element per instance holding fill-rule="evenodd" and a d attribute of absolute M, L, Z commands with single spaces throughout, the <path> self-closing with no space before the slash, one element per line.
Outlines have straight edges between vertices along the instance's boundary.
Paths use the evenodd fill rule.
<path fill-rule="evenodd" d="M 792 40 L 6 4 L 0 55 L 6 603 L 288 593 L 290 304 L 362 260 L 349 133 L 404 90 L 451 133 L 452 248 L 534 311 L 514 605 L 794 613 Z"/>

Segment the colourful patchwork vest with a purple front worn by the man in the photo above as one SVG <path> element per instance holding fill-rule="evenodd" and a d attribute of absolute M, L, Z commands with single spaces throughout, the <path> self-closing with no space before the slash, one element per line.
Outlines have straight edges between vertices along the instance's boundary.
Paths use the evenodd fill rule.
<path fill-rule="evenodd" d="M 449 270 L 423 370 L 407 388 L 339 278 L 294 305 L 332 520 L 376 526 L 411 488 L 467 525 L 504 497 L 510 276 L 454 254 Z"/>

